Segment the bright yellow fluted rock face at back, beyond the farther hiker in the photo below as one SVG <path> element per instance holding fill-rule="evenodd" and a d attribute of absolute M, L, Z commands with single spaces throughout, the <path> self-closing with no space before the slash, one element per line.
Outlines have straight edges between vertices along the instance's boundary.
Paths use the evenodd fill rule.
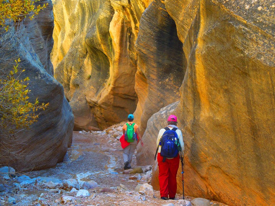
<path fill-rule="evenodd" d="M 148 1 L 54 2 L 54 76 L 64 86 L 75 130 L 105 128 L 135 111 L 134 48 Z"/>

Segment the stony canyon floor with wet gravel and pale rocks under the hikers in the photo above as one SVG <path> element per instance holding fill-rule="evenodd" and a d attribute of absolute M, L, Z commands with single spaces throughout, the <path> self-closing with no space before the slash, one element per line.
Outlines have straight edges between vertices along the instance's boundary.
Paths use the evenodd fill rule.
<path fill-rule="evenodd" d="M 72 147 L 62 163 L 54 168 L 32 171 L 25 175 L 12 169 L 0 169 L 1 205 L 206 205 L 225 206 L 205 199 L 186 196 L 187 201 L 160 199 L 151 182 L 152 166 L 136 166 L 123 170 L 122 149 L 119 137 L 122 125 L 104 131 L 74 132 Z M 6 172 L 6 173 L 5 173 Z M 128 174 L 130 173 L 130 174 Z M 177 194 L 177 199 L 182 196 Z"/>

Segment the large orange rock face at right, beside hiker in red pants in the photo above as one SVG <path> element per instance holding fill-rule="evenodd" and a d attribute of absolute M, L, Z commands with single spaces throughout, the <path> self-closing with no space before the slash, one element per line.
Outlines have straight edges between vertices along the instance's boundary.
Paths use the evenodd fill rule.
<path fill-rule="evenodd" d="M 152 145 L 138 148 L 138 162 L 154 163 L 156 145 L 151 138 L 156 140 L 167 115 L 176 114 L 185 143 L 186 195 L 228 205 L 274 205 L 272 2 L 164 3 L 183 43 L 187 70 L 178 105 L 171 112 L 163 108 L 164 115 L 160 110 L 148 121 L 143 139 Z M 155 164 L 152 185 L 156 189 L 157 174 Z"/>

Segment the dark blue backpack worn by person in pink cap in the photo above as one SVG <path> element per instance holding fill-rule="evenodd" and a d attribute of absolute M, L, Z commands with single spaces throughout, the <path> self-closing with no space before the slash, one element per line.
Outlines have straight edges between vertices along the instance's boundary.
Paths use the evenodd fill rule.
<path fill-rule="evenodd" d="M 178 152 L 180 151 L 179 148 L 179 141 L 178 141 L 178 134 L 176 133 L 176 128 L 172 128 L 170 130 L 168 127 L 164 128 L 166 131 L 163 133 L 160 143 L 158 145 L 161 146 L 160 156 L 163 157 L 163 162 L 165 162 L 166 157 L 174 158 L 177 157 Z M 156 150 L 156 155 L 158 153 L 158 148 Z M 155 155 L 155 160 L 156 160 Z"/>

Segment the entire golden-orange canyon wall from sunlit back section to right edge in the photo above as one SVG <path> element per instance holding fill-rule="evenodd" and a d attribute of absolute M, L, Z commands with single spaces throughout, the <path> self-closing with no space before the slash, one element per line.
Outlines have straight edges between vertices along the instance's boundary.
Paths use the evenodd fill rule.
<path fill-rule="evenodd" d="M 158 189 L 155 141 L 176 114 L 186 195 L 274 205 L 274 3 L 148 4 L 54 2 L 54 75 L 74 128 L 104 128 L 135 111 L 145 144 L 137 163 L 154 164 Z"/>

